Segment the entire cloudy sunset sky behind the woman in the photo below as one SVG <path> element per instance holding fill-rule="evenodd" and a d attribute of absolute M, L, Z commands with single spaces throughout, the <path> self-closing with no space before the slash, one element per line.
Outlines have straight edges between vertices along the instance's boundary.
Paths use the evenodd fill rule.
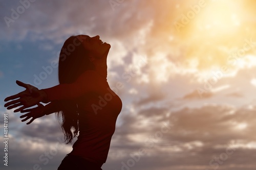
<path fill-rule="evenodd" d="M 0 0 L 0 127 L 8 166 L 57 169 L 71 152 L 54 114 L 26 125 L 4 108 L 58 84 L 63 42 L 111 44 L 108 82 L 123 102 L 103 170 L 256 169 L 256 20 L 252 0 Z"/>

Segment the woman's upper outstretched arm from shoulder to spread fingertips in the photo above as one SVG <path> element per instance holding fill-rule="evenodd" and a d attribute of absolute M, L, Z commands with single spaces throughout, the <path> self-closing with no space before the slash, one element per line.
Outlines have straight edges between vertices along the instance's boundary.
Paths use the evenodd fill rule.
<path fill-rule="evenodd" d="M 38 90 L 36 87 L 16 81 L 19 86 L 25 87 L 26 90 L 18 94 L 9 96 L 5 102 L 7 109 L 22 106 L 14 112 L 19 112 L 29 107 L 38 105 L 40 102 L 49 103 L 57 100 L 72 100 L 82 96 L 87 92 L 102 91 L 102 78 L 95 71 L 84 72 L 74 83 L 59 84 L 57 86 Z"/>

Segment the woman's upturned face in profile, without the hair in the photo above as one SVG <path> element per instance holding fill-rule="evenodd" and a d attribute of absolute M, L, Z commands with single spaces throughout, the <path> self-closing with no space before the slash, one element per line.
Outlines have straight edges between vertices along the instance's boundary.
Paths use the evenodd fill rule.
<path fill-rule="evenodd" d="M 83 46 L 90 52 L 90 54 L 95 58 L 101 58 L 108 55 L 111 45 L 102 42 L 99 36 L 90 37 L 88 35 L 79 35 L 83 36 Z M 86 38 L 84 38 L 86 37 Z"/>

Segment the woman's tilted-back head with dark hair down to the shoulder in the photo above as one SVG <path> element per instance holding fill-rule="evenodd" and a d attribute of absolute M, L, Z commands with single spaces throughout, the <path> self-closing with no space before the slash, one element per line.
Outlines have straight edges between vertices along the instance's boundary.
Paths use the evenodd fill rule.
<path fill-rule="evenodd" d="M 84 71 L 95 69 L 98 61 L 106 59 L 110 47 L 110 44 L 103 43 L 98 35 L 69 37 L 59 55 L 59 83 L 72 83 Z"/>

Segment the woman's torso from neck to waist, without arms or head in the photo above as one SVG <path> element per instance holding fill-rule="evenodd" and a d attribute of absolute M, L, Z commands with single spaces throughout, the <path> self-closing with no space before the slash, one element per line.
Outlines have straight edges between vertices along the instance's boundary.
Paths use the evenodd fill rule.
<path fill-rule="evenodd" d="M 99 86 L 99 91 L 77 99 L 79 136 L 71 154 L 104 163 L 122 102 L 106 79 L 99 78 L 95 85 Z"/>

